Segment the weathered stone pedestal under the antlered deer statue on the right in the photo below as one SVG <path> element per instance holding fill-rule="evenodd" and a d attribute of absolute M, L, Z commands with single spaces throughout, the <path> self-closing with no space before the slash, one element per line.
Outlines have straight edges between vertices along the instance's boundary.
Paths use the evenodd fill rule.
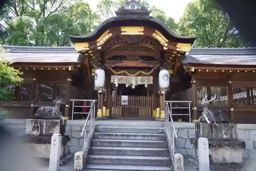
<path fill-rule="evenodd" d="M 237 125 L 234 123 L 208 124 L 196 122 L 196 138 L 191 139 L 195 148 L 195 160 L 198 161 L 198 138 L 208 139 L 210 164 L 235 164 L 243 163 L 242 149 L 245 142 L 237 138 Z"/>

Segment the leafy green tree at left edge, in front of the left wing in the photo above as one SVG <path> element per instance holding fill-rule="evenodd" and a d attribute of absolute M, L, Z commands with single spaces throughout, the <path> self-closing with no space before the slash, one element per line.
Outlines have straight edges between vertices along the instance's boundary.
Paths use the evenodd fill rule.
<path fill-rule="evenodd" d="M 8 53 L 0 45 L 0 101 L 11 101 L 12 93 L 4 83 L 19 83 L 23 81 L 20 77 L 23 73 L 10 66 Z"/>

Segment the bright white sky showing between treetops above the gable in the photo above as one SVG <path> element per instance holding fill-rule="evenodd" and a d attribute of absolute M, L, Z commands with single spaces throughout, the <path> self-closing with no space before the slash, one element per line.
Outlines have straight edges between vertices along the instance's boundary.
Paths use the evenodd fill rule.
<path fill-rule="evenodd" d="M 90 4 L 91 8 L 95 11 L 96 6 L 100 0 L 83 0 Z M 189 2 L 192 0 L 146 0 L 151 6 L 156 6 L 157 8 L 163 10 L 166 15 L 171 16 L 176 22 L 182 16 L 185 8 Z"/>

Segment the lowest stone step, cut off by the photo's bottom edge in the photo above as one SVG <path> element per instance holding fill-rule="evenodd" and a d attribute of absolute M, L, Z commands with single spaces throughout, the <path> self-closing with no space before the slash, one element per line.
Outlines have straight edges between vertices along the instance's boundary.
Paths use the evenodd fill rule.
<path fill-rule="evenodd" d="M 172 170 L 167 166 L 138 166 L 138 165 L 113 165 L 113 164 L 87 164 L 87 171 L 101 171 L 101 170 L 121 170 L 121 171 L 162 171 Z"/>

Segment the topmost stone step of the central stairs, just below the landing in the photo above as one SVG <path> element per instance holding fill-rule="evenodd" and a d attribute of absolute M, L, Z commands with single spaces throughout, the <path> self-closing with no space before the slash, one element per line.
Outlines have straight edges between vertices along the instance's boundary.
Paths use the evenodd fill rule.
<path fill-rule="evenodd" d="M 127 126 L 97 126 L 95 132 L 108 133 L 150 133 L 150 134 L 164 134 L 163 128 L 153 127 L 127 127 Z"/>

